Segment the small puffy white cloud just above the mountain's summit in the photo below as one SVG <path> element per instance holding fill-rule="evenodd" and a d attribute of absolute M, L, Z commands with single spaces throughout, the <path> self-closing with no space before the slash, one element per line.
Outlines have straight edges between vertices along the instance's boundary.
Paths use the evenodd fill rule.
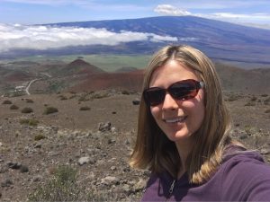
<path fill-rule="evenodd" d="M 171 4 L 158 4 L 157 7 L 154 9 L 154 12 L 164 15 L 175 15 L 175 16 L 183 16 L 191 14 Z"/>

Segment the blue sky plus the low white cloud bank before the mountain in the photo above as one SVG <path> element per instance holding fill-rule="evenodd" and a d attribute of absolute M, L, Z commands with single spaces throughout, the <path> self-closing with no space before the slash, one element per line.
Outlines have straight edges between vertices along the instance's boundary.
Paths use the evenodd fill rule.
<path fill-rule="evenodd" d="M 0 0 L 0 54 L 13 48 L 177 40 L 153 33 L 35 25 L 163 15 L 193 15 L 270 29 L 269 0 Z"/>

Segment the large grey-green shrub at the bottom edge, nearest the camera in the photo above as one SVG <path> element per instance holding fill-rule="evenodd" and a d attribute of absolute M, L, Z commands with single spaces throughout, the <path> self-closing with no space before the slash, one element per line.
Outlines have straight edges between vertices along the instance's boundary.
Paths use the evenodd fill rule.
<path fill-rule="evenodd" d="M 120 201 L 119 194 L 104 190 L 87 190 L 76 182 L 77 171 L 70 166 L 58 166 L 52 178 L 37 187 L 29 196 L 29 201 Z M 79 186 L 80 185 L 80 186 Z"/>

